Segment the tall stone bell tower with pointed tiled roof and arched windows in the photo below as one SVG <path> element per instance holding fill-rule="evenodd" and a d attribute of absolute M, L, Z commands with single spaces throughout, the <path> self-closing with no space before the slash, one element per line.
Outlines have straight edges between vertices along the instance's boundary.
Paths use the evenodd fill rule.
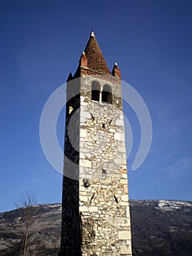
<path fill-rule="evenodd" d="M 61 255 L 132 255 L 120 69 L 93 32 L 66 99 Z"/>

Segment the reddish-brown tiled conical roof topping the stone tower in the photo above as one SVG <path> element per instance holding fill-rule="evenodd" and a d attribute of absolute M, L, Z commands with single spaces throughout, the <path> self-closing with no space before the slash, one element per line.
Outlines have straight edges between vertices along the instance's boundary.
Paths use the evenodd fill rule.
<path fill-rule="evenodd" d="M 93 32 L 91 32 L 91 36 L 85 47 L 85 56 L 88 59 L 88 68 L 93 69 L 93 71 L 103 72 L 110 75 L 110 69 L 107 67 L 107 63 L 104 60 L 104 56 L 101 53 Z"/>

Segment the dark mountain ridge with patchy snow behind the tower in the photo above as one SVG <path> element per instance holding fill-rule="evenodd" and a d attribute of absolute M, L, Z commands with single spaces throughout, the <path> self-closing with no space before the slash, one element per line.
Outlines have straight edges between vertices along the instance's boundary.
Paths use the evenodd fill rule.
<path fill-rule="evenodd" d="M 192 255 L 192 202 L 183 200 L 129 200 L 133 255 Z M 36 232 L 28 246 L 28 255 L 58 255 L 61 239 L 61 203 L 34 207 Z M 16 256 L 9 240 L 17 233 L 7 226 L 10 218 L 20 225 L 21 209 L 0 213 L 0 255 Z M 7 246 L 9 244 L 9 246 Z"/>

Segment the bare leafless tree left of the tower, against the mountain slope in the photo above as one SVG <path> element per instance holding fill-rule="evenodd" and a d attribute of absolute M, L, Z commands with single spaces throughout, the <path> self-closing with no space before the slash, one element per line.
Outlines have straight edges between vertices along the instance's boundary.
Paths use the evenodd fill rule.
<path fill-rule="evenodd" d="M 28 246 L 33 244 L 37 230 L 34 228 L 34 216 L 37 213 L 37 197 L 31 192 L 24 192 L 20 195 L 19 203 L 15 203 L 18 209 L 17 215 L 8 215 L 7 226 L 10 233 L 7 233 L 7 243 L 11 249 L 11 255 L 26 256 L 34 255 Z"/>

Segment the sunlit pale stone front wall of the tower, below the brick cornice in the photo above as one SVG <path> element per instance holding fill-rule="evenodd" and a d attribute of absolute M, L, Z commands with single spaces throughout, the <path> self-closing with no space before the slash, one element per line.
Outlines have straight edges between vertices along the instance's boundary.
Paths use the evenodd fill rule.
<path fill-rule="evenodd" d="M 121 89 L 107 83 L 112 88 L 112 105 L 91 101 L 92 81 L 90 76 L 82 77 L 80 91 L 82 255 L 131 255 Z M 97 81 L 101 87 L 106 84 Z"/>

